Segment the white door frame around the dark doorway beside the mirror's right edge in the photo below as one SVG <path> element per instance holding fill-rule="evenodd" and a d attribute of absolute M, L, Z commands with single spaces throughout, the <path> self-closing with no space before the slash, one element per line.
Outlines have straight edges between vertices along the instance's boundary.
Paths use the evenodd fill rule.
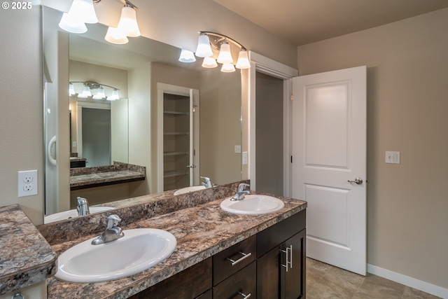
<path fill-rule="evenodd" d="M 255 181 L 255 73 L 280 78 L 283 80 L 283 196 L 290 196 L 290 95 L 291 78 L 299 75 L 297 69 L 288 67 L 270 58 L 249 51 L 251 70 L 249 75 L 249 109 L 248 109 L 248 179 L 251 189 L 256 190 Z"/>

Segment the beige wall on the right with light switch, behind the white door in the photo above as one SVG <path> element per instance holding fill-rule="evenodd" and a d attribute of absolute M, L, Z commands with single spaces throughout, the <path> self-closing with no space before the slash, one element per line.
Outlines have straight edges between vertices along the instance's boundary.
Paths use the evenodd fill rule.
<path fill-rule="evenodd" d="M 300 75 L 367 65 L 367 262 L 443 288 L 447 28 L 443 9 L 298 48 Z"/>

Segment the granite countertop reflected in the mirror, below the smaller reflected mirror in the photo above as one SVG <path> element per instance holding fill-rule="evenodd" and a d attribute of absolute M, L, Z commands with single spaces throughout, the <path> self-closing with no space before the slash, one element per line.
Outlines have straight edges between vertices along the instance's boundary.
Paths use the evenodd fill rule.
<path fill-rule="evenodd" d="M 71 168 L 70 190 L 143 181 L 145 178 L 146 167 L 120 162 L 109 166 Z"/>

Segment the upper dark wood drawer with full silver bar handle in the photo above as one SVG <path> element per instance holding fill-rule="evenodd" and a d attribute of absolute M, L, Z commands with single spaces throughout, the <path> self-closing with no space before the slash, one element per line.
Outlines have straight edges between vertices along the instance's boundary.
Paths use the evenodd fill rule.
<path fill-rule="evenodd" d="M 213 285 L 216 286 L 216 284 L 253 262 L 257 256 L 256 250 L 256 237 L 253 235 L 220 253 L 216 253 L 213 256 Z"/>

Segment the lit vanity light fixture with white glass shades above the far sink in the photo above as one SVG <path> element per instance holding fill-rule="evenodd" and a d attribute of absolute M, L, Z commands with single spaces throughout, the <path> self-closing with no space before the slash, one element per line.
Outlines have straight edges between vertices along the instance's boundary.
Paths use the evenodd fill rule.
<path fill-rule="evenodd" d="M 235 41 L 235 39 L 230 39 L 229 36 L 223 34 L 218 34 L 216 32 L 199 32 L 199 40 L 197 42 L 196 56 L 204 57 L 204 62 L 202 62 L 202 67 L 212 68 L 218 67 L 214 56 L 214 50 L 219 51 L 218 63 L 223 64 L 221 71 L 225 73 L 230 73 L 235 71 L 235 66 L 233 64 L 232 51 L 230 43 L 233 46 L 239 48 L 237 69 L 248 69 L 251 67 L 251 62 L 248 59 L 247 49 Z M 229 43 L 230 42 L 230 43 Z M 180 60 L 180 59 L 179 59 Z"/>

